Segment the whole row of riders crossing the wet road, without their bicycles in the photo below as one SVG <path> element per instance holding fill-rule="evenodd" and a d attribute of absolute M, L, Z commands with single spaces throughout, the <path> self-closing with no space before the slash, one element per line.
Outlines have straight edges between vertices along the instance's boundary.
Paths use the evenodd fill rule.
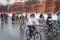
<path fill-rule="evenodd" d="M 22 28 L 23 24 L 25 23 L 30 30 L 32 30 L 32 29 L 34 30 L 36 28 L 34 25 L 40 25 L 40 24 L 43 25 L 44 23 L 47 24 L 49 27 L 52 27 L 52 24 L 54 22 L 57 22 L 58 27 L 60 28 L 60 12 L 56 15 L 57 15 L 57 20 L 53 20 L 52 14 L 50 14 L 50 13 L 48 14 L 48 17 L 45 20 L 43 14 L 40 14 L 39 18 L 36 19 L 35 14 L 30 14 L 30 16 L 29 16 L 30 18 L 28 18 L 27 15 L 23 16 L 21 14 L 21 16 L 19 16 L 19 14 L 13 12 L 11 20 L 12 20 L 12 24 L 14 24 L 15 22 L 18 22 L 20 24 L 21 28 Z M 2 12 L 0 17 L 1 17 L 1 22 L 8 23 L 8 18 L 9 18 L 8 13 Z M 27 19 L 27 21 L 26 21 L 26 19 Z M 31 36 L 31 32 L 32 31 L 30 31 L 30 36 Z"/>

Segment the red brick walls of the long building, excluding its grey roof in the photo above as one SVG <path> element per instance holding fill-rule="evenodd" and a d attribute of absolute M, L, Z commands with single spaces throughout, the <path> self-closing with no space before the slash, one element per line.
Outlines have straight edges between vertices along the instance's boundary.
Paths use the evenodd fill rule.
<path fill-rule="evenodd" d="M 47 13 L 48 8 L 50 8 L 49 12 L 51 12 L 51 13 L 56 13 L 58 10 L 60 10 L 60 0 L 59 1 L 51 0 L 52 2 L 49 4 L 46 3 L 47 1 L 49 1 L 49 0 L 46 0 L 43 4 L 40 4 L 37 6 L 37 13 Z M 26 9 L 24 8 L 24 5 L 25 5 L 24 2 L 14 3 L 14 5 L 11 5 L 10 11 L 19 10 L 22 13 L 26 13 Z M 50 6 L 48 7 L 48 5 L 50 5 Z M 30 6 L 30 7 L 28 6 L 27 12 L 28 13 L 36 13 L 35 5 Z"/>

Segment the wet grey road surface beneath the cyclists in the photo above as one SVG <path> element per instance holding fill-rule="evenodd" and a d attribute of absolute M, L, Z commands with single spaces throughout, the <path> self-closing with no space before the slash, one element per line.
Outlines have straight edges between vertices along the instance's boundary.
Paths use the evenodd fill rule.
<path fill-rule="evenodd" d="M 57 37 L 53 37 L 44 32 L 40 32 L 42 40 L 60 40 L 60 32 Z M 12 24 L 11 18 L 8 20 L 8 24 L 1 24 L 0 21 L 0 40 L 26 40 L 25 29 L 20 29 L 19 24 Z"/>

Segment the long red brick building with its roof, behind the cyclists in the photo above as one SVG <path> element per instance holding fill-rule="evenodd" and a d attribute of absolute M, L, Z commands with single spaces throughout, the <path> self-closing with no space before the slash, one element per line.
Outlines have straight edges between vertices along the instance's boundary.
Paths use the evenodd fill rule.
<path fill-rule="evenodd" d="M 14 4 L 10 5 L 9 10 L 10 12 L 20 11 L 22 13 L 52 13 L 54 14 L 60 10 L 60 0 L 27 0 L 27 1 L 15 0 Z"/>

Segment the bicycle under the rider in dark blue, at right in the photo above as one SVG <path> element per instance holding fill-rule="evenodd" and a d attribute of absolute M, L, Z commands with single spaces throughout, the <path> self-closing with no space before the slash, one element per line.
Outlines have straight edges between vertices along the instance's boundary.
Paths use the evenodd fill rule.
<path fill-rule="evenodd" d="M 52 24 L 52 27 L 48 27 L 48 26 L 44 27 L 44 33 L 48 34 L 49 32 L 51 32 L 54 37 L 57 37 L 58 35 L 58 29 L 55 28 L 53 24 Z"/>

